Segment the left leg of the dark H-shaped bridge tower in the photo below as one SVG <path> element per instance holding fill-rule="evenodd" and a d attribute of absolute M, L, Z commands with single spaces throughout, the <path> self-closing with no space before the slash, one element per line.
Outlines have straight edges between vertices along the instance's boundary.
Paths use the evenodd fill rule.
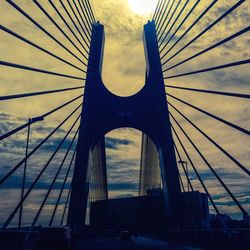
<path fill-rule="evenodd" d="M 93 148 L 93 133 L 91 116 L 91 88 L 101 79 L 104 47 L 104 27 L 95 23 L 92 29 L 87 79 L 83 100 L 81 126 L 79 131 L 75 168 L 72 180 L 71 198 L 69 204 L 67 224 L 74 232 L 82 231 L 85 227 L 88 205 L 89 180 L 88 167 L 90 151 Z M 96 141 L 97 142 L 97 141 Z"/>

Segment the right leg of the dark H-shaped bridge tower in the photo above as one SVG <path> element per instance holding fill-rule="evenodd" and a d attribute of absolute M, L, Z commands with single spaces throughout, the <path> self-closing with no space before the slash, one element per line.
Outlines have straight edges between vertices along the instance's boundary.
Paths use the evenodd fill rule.
<path fill-rule="evenodd" d="M 154 86 L 158 99 L 155 107 L 158 119 L 155 123 L 159 124 L 155 124 L 155 139 L 158 142 L 167 224 L 171 227 L 178 220 L 181 188 L 154 22 L 149 21 L 144 26 L 144 46 L 147 61 L 146 82 Z"/>

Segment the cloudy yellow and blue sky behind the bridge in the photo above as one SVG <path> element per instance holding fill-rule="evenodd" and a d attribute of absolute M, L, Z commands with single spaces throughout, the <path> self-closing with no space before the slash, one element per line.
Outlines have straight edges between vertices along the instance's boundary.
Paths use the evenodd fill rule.
<path fill-rule="evenodd" d="M 138 1 L 138 2 L 137 2 Z M 103 81 L 106 87 L 114 94 L 120 96 L 130 96 L 137 93 L 144 86 L 145 82 L 145 56 L 143 48 L 143 25 L 152 17 L 153 10 L 157 4 L 156 0 L 147 0 L 152 6 L 148 9 L 142 9 L 140 0 L 92 0 L 92 6 L 97 20 L 105 26 L 105 50 L 104 50 L 104 64 L 103 64 Z M 59 41 L 63 41 L 72 52 L 79 57 L 81 54 L 73 45 L 65 39 L 60 31 L 46 18 L 41 10 L 30 0 L 16 0 L 13 1 L 18 6 L 22 7 L 29 13 L 37 22 L 55 36 Z M 63 12 L 59 1 L 53 1 L 55 5 Z M 67 5 L 67 1 L 65 5 Z M 178 2 L 178 1 L 176 1 Z M 186 9 L 182 14 L 182 18 L 187 15 L 196 1 L 190 0 Z M 176 33 L 173 41 L 189 27 L 198 15 L 207 7 L 212 1 L 200 1 L 195 11 L 187 19 L 187 22 Z M 221 0 L 205 15 L 205 17 L 185 36 L 176 48 L 170 52 L 174 54 L 178 48 L 182 48 L 195 35 L 199 34 L 216 18 L 222 15 L 237 1 L 235 0 Z M 48 13 L 55 18 L 60 27 L 62 27 L 67 34 L 70 34 L 65 24 L 57 16 L 48 1 L 39 1 L 41 5 L 48 11 Z M 137 3 L 138 5 L 135 5 Z M 180 10 L 186 1 L 181 1 L 178 10 Z M 145 4 L 144 4 L 145 5 Z M 143 6 L 144 6 L 143 5 Z M 145 5 L 146 6 L 146 5 Z M 144 6 L 144 7 L 145 7 Z M 176 6 L 176 3 L 174 4 Z M 144 8 L 143 7 L 143 8 Z M 239 8 L 237 8 L 230 16 L 221 21 L 209 32 L 200 37 L 195 43 L 185 49 L 180 55 L 171 60 L 166 67 L 172 66 L 183 59 L 201 51 L 204 48 L 220 41 L 221 39 L 240 31 L 249 23 L 249 1 L 245 1 Z M 146 12 L 145 12 L 146 11 Z M 71 13 L 71 12 L 70 12 Z M 177 20 L 173 31 L 182 21 L 180 17 Z M 174 20 L 174 18 L 173 18 Z M 173 20 L 170 22 L 172 24 Z M 70 23 L 70 20 L 67 18 Z M 78 67 L 82 64 L 65 50 L 63 50 L 51 38 L 45 35 L 41 30 L 36 28 L 34 24 L 30 23 L 20 13 L 18 13 L 6 1 L 0 2 L 0 23 L 1 25 L 13 30 L 41 47 L 53 51 L 58 56 L 68 60 Z M 72 29 L 74 29 L 71 24 Z M 169 26 L 170 27 L 170 26 Z M 75 31 L 77 32 L 77 31 Z M 171 33 L 170 33 L 171 34 Z M 70 38 L 74 37 L 70 34 Z M 66 65 L 63 62 L 52 58 L 49 55 L 24 44 L 22 41 L 14 38 L 6 32 L 0 30 L 0 56 L 2 61 L 13 62 L 17 64 L 24 64 L 50 71 L 61 72 L 78 77 L 85 77 L 84 73 L 79 70 Z M 76 42 L 77 43 L 77 42 Z M 171 45 L 171 44 L 170 44 Z M 249 34 L 242 35 L 237 39 L 228 42 L 194 60 L 191 60 L 175 69 L 166 72 L 165 76 L 171 76 L 178 73 L 193 71 L 202 68 L 212 67 L 223 63 L 230 63 L 238 60 L 249 58 L 250 40 Z M 165 68 L 166 68 L 165 67 Z M 163 69 L 165 69 L 163 68 Z M 168 79 L 166 84 L 213 89 L 227 92 L 248 93 L 249 88 L 249 70 L 248 66 L 241 66 L 230 68 L 227 70 L 213 71 L 205 74 L 198 74 L 175 79 Z M 8 67 L 0 67 L 0 95 L 10 95 L 13 93 L 25 93 L 33 91 L 44 91 L 48 89 L 68 88 L 82 86 L 83 82 L 80 80 L 61 78 L 56 76 L 47 76 L 40 73 L 31 73 L 23 70 L 12 69 Z M 249 102 L 248 100 L 240 98 L 229 98 L 222 96 L 211 96 L 202 93 L 193 93 L 189 91 L 181 91 L 174 89 L 167 89 L 167 93 L 178 96 L 179 98 L 190 102 L 196 106 L 206 109 L 209 112 L 216 114 L 232 123 L 250 129 L 249 123 Z M 59 106 L 60 104 L 71 100 L 72 98 L 82 94 L 82 90 L 74 90 L 71 92 L 53 94 L 49 96 L 32 97 L 19 100 L 1 101 L 0 109 L 0 134 L 27 122 L 29 117 L 36 117 L 46 113 L 48 110 Z M 249 166 L 250 155 L 250 141 L 249 138 L 220 122 L 206 117 L 205 115 L 194 111 L 193 109 L 174 101 L 172 98 L 168 99 L 174 106 L 181 110 L 187 117 L 189 117 L 195 124 L 204 130 L 212 139 L 224 149 L 231 153 L 236 159 L 246 166 Z M 73 104 L 69 105 L 54 115 L 45 119 L 45 121 L 37 123 L 31 129 L 30 149 L 34 148 L 44 136 L 50 133 L 54 127 L 57 126 L 65 117 L 81 103 L 81 98 Z M 202 153 L 209 159 L 210 164 L 218 171 L 225 183 L 230 187 L 232 192 L 236 195 L 238 200 L 242 203 L 244 208 L 250 212 L 250 185 L 248 176 L 243 173 L 237 165 L 232 163 L 227 157 L 221 154 L 216 147 L 209 143 L 199 132 L 190 126 L 176 111 L 170 109 L 171 113 L 181 122 L 185 131 L 188 132 L 192 140 L 199 146 Z M 34 180 L 36 174 L 49 159 L 52 150 L 60 142 L 66 131 L 70 128 L 74 120 L 80 114 L 78 110 L 71 119 L 66 122 L 62 128 L 52 136 L 46 145 L 37 151 L 37 153 L 28 161 L 29 174 L 27 176 L 27 186 Z M 225 190 L 221 188 L 220 184 L 212 176 L 209 169 L 206 167 L 202 159 L 197 155 L 192 145 L 183 136 L 180 129 L 174 124 L 182 142 L 199 169 L 202 178 L 205 181 L 211 195 L 218 204 L 223 213 L 228 213 L 234 218 L 241 218 L 239 210 L 234 205 L 233 201 L 228 197 Z M 36 190 L 31 193 L 28 200 L 24 204 L 24 223 L 29 223 L 35 211 L 41 204 L 42 197 L 48 188 L 49 183 L 53 179 L 53 173 L 58 168 L 59 159 L 62 159 L 68 145 L 71 142 L 74 134 L 77 131 L 79 124 L 77 123 L 69 138 L 66 139 L 62 149 L 59 150 L 58 155 L 53 159 L 51 166 L 44 172 Z M 0 151 L 0 175 L 4 176 L 15 164 L 17 164 L 25 154 L 25 140 L 26 130 L 11 136 L 9 139 L 1 142 Z M 109 196 L 123 197 L 137 195 L 139 183 L 139 167 L 140 167 L 140 147 L 141 147 L 141 132 L 131 128 L 119 129 L 110 132 L 106 135 L 106 153 L 108 166 L 108 182 L 109 182 Z M 177 142 L 177 141 L 176 141 Z M 179 144 L 177 143 L 178 147 Z M 75 147 L 75 141 L 72 148 Z M 180 147 L 179 147 L 180 148 Z M 185 154 L 180 150 L 184 160 Z M 73 151 L 69 153 L 66 159 L 65 166 L 70 162 Z M 37 156 L 37 157 L 35 157 Z M 189 164 L 190 165 L 190 164 Z M 194 172 L 190 167 L 190 177 L 195 189 L 202 191 L 202 187 L 195 178 Z M 20 186 L 22 177 L 22 168 L 18 170 L 13 177 L 5 183 L 4 188 L 0 190 L 0 223 L 3 222 L 7 214 L 15 207 L 16 200 L 20 199 Z M 183 172 L 180 168 L 181 175 Z M 56 183 L 56 190 L 53 191 L 49 197 L 44 210 L 42 211 L 42 219 L 39 221 L 43 223 L 48 219 L 54 201 L 57 197 L 57 192 L 60 184 L 63 182 L 63 177 L 66 173 L 66 168 L 63 168 L 59 175 L 59 181 Z M 67 185 L 69 186 L 72 177 L 70 172 Z M 66 185 L 66 186 L 67 186 Z M 67 187 L 68 187 L 67 186 Z M 67 190 L 63 192 L 62 200 L 59 204 L 59 211 L 56 220 L 59 220 L 63 211 L 63 203 L 67 197 Z M 211 212 L 213 212 L 211 208 Z M 16 222 L 17 217 L 13 220 Z"/>

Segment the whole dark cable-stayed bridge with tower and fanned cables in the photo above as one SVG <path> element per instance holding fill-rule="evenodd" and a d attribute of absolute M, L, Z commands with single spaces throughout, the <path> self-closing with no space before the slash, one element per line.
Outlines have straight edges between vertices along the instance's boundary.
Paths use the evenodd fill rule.
<path fill-rule="evenodd" d="M 243 185 L 249 183 L 250 175 L 250 93 L 238 86 L 234 74 L 247 71 L 250 59 L 247 52 L 239 53 L 239 58 L 228 53 L 220 63 L 213 60 L 213 52 L 237 47 L 239 39 L 247 40 L 250 27 L 236 22 L 234 30 L 225 32 L 226 36 L 217 32 L 212 33 L 213 39 L 209 37 L 213 29 L 223 22 L 227 24 L 232 16 L 243 16 L 247 1 L 159 0 L 152 19 L 142 27 L 145 85 L 129 97 L 112 94 L 103 83 L 105 26 L 97 21 L 89 0 L 27 1 L 42 19 L 36 19 L 29 6 L 20 1 L 6 0 L 1 5 L 38 33 L 37 39 L 32 40 L 25 27 L 13 28 L 11 21 L 9 25 L 0 24 L 2 35 L 15 45 L 11 59 L 0 59 L 1 86 L 9 84 L 6 94 L 0 96 L 0 104 L 4 110 L 15 109 L 15 102 L 25 103 L 23 109 L 32 106 L 33 101 L 34 105 L 41 102 L 48 107 L 46 112 L 37 110 L 18 123 L 8 121 L 7 113 L 1 115 L 6 118 L 0 125 L 3 249 L 10 249 L 8 244 L 15 249 L 15 242 L 16 249 L 26 249 L 41 227 L 59 232 L 65 226 L 77 235 L 79 249 L 149 247 L 148 241 L 139 236 L 135 243 L 114 240 L 107 244 L 100 238 L 107 229 L 115 233 L 130 230 L 136 235 L 184 245 L 211 244 L 213 249 L 230 244 L 244 249 L 249 244 L 249 202 L 242 198 L 240 189 L 247 188 Z M 51 31 L 51 26 L 56 32 Z M 197 46 L 202 38 L 208 43 Z M 41 45 L 40 39 L 48 39 L 48 43 Z M 41 61 L 50 58 L 49 66 L 37 67 L 32 57 L 23 60 L 25 63 L 15 61 L 15 51 L 23 46 L 32 53 L 39 51 Z M 211 57 L 210 62 L 199 61 L 204 57 Z M 75 73 L 68 73 L 72 72 L 69 69 Z M 235 79 L 231 89 L 223 87 L 228 71 Z M 219 90 L 206 83 L 196 87 L 197 81 L 208 73 L 217 73 L 222 81 Z M 57 79 L 70 85 L 56 89 L 44 85 L 48 89 L 39 91 L 25 85 L 27 92 L 16 92 L 11 83 L 13 74 L 17 78 L 24 74 L 27 79 Z M 19 77 L 18 81 L 23 79 Z M 54 100 L 58 105 L 54 105 Z M 196 104 L 197 100 L 203 103 Z M 239 117 L 234 109 L 237 102 L 244 105 L 245 123 L 235 119 Z M 216 107 L 231 104 L 233 114 L 230 109 L 225 109 L 228 114 L 216 112 L 212 103 Z M 142 132 L 139 193 L 138 197 L 110 200 L 105 135 L 124 127 Z M 43 136 L 35 139 L 37 131 Z M 194 138 L 194 134 L 198 136 Z M 209 146 L 203 147 L 199 142 Z M 234 145 L 237 152 L 230 150 L 228 144 Z M 209 178 L 204 173 L 209 173 Z M 224 179 L 227 175 L 239 179 L 240 189 L 231 188 Z M 45 180 L 46 185 L 42 186 Z M 219 185 L 221 194 L 210 182 Z M 9 191 L 12 186 L 18 190 L 14 196 Z M 218 196 L 237 211 L 237 218 L 230 218 Z M 149 242 L 152 249 L 181 249 L 169 243 L 158 247 L 157 242 Z"/>

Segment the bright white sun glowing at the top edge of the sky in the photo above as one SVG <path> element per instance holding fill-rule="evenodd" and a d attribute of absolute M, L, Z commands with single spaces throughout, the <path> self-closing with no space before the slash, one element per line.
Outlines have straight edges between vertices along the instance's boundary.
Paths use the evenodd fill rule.
<path fill-rule="evenodd" d="M 149 15 L 154 12 L 158 0 L 128 0 L 129 6 L 138 15 Z"/>

